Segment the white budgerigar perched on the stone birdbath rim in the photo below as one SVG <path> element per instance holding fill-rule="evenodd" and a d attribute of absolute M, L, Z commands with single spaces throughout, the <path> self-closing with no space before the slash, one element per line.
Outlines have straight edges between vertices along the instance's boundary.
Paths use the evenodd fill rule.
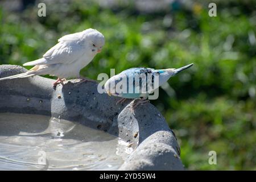
<path fill-rule="evenodd" d="M 35 75 L 57 76 L 53 86 L 63 84 L 65 78 L 81 78 L 82 81 L 86 81 L 86 78 L 80 77 L 80 70 L 88 65 L 98 52 L 101 52 L 105 44 L 104 36 L 101 32 L 88 28 L 82 32 L 65 35 L 58 42 L 42 58 L 23 64 L 34 65 L 29 71 L 0 78 L 0 81 Z"/>

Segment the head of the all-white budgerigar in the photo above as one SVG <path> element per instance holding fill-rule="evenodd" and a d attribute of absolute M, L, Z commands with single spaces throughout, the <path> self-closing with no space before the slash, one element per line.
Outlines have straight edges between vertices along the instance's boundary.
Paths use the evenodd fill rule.
<path fill-rule="evenodd" d="M 88 44 L 87 46 L 89 47 L 90 51 L 92 51 L 93 54 L 100 53 L 105 44 L 104 35 L 92 28 L 86 29 L 84 34 L 85 42 Z"/>

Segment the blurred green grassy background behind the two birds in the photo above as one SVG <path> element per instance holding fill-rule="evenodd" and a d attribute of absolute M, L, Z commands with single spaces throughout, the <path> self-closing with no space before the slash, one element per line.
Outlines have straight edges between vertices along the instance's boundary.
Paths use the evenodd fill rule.
<path fill-rule="evenodd" d="M 46 3 L 39 17 L 38 3 Z M 0 64 L 42 57 L 57 39 L 96 28 L 106 44 L 82 75 L 177 68 L 151 101 L 174 129 L 187 169 L 256 170 L 256 1 L 1 1 Z M 217 17 L 208 15 L 210 2 Z M 29 67 L 28 67 L 29 68 Z M 208 152 L 217 152 L 217 165 Z"/>

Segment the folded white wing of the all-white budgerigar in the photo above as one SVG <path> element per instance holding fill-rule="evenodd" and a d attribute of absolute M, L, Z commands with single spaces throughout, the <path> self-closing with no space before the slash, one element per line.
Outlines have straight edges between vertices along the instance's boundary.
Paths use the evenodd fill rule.
<path fill-rule="evenodd" d="M 81 44 L 81 32 L 65 35 L 58 41 L 59 43 L 49 49 L 43 58 L 23 65 L 70 64 L 85 53 L 85 47 Z"/>

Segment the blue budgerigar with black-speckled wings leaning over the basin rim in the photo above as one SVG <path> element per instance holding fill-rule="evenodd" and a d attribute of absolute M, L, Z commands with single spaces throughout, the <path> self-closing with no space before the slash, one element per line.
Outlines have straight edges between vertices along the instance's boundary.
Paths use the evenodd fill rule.
<path fill-rule="evenodd" d="M 152 69 L 152 68 L 130 68 L 111 77 L 105 83 L 105 90 L 109 96 L 117 96 L 122 99 L 117 102 L 122 103 L 127 98 L 140 99 L 134 102 L 133 107 L 148 102 L 148 95 L 154 92 L 159 86 L 162 86 L 184 69 L 192 67 L 192 64 L 186 65 L 178 69 Z"/>

